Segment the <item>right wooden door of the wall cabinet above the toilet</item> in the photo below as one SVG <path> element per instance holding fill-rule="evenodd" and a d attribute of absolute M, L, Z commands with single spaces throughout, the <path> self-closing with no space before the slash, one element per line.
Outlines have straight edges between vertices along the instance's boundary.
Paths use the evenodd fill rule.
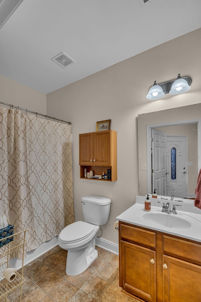
<path fill-rule="evenodd" d="M 110 131 L 100 131 L 94 133 L 94 165 L 111 165 Z"/>

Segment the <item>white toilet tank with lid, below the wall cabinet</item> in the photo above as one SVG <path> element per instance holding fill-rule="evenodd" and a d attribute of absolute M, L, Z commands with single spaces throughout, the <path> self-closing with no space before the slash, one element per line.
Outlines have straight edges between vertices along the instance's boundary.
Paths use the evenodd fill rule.
<path fill-rule="evenodd" d="M 95 195 L 81 198 L 84 220 L 102 226 L 108 221 L 111 199 Z"/>

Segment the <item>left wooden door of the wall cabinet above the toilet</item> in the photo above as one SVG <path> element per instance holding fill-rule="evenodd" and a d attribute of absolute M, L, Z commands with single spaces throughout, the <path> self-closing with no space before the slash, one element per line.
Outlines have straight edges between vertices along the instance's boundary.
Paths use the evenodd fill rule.
<path fill-rule="evenodd" d="M 79 165 L 94 165 L 94 133 L 79 134 Z"/>

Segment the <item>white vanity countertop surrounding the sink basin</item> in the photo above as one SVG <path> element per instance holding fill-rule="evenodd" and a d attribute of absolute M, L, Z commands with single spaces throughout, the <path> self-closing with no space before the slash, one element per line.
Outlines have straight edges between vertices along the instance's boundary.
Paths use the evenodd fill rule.
<path fill-rule="evenodd" d="M 201 210 L 196 208 L 194 204 L 191 202 L 177 202 L 163 199 L 150 198 L 151 201 L 151 211 L 144 210 L 144 200 L 146 197 L 136 196 L 136 202 L 129 209 L 124 211 L 122 214 L 116 217 L 117 220 L 124 221 L 136 226 L 146 227 L 152 230 L 156 230 L 159 232 L 164 232 L 167 234 L 172 234 L 175 236 L 179 236 L 182 238 L 187 238 L 195 241 L 201 242 Z M 162 213 L 162 204 L 160 202 L 169 202 L 171 209 L 173 204 L 181 204 L 181 207 L 176 207 L 177 214 L 167 214 Z M 186 201 L 188 201 L 186 199 Z M 191 224 L 190 227 L 187 228 L 176 228 L 176 227 L 167 227 L 157 224 L 157 222 L 150 222 L 143 218 L 143 215 L 146 213 L 161 213 L 164 215 L 164 219 L 168 219 L 171 215 L 177 218 L 183 219 Z M 145 217 L 145 216 L 144 216 Z"/>

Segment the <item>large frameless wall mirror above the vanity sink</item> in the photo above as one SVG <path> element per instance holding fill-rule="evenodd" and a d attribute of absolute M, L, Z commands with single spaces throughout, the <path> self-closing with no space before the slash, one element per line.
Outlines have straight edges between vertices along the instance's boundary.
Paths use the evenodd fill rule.
<path fill-rule="evenodd" d="M 201 103 L 138 115 L 139 195 L 194 198 L 200 136 Z"/>

